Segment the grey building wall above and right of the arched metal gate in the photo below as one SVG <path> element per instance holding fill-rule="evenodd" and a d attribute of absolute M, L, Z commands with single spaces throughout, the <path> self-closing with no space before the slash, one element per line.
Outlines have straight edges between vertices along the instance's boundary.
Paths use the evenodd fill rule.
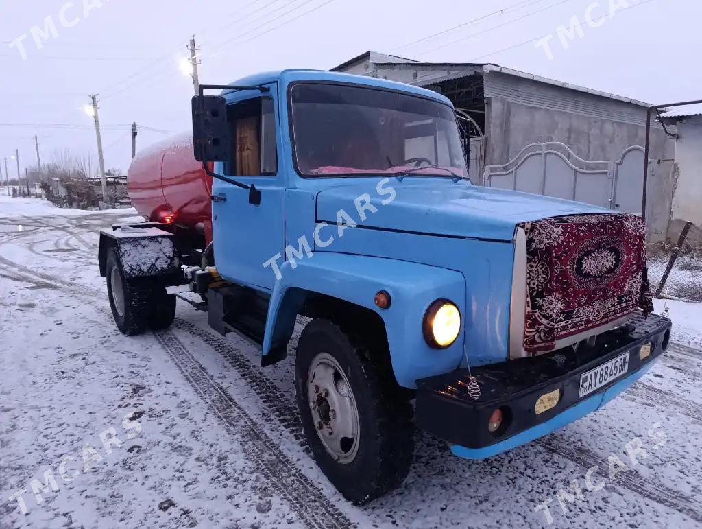
<path fill-rule="evenodd" d="M 487 165 L 510 161 L 530 143 L 559 141 L 590 161 L 618 160 L 626 148 L 646 143 L 647 109 L 640 105 L 498 72 L 486 74 L 485 92 Z M 653 242 L 668 235 L 674 156 L 675 141 L 654 124 L 649 159 L 660 162 L 651 166 L 647 193 Z"/>

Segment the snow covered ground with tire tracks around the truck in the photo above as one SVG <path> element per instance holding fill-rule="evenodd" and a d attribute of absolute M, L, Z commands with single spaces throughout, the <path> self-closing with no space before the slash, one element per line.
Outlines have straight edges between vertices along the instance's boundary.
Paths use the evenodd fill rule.
<path fill-rule="evenodd" d="M 261 369 L 185 304 L 117 331 L 97 230 L 134 215 L 0 196 L 0 528 L 702 525 L 702 305 L 668 301 L 676 344 L 603 410 L 482 462 L 418 432 L 404 486 L 357 508 L 305 451 L 292 355 Z"/>

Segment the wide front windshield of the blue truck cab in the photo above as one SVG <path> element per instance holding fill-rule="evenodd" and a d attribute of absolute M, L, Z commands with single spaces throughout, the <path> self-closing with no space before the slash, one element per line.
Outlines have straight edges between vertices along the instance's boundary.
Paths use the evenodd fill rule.
<path fill-rule="evenodd" d="M 300 174 L 466 175 L 449 105 L 392 91 L 309 83 L 293 86 L 291 108 Z"/>

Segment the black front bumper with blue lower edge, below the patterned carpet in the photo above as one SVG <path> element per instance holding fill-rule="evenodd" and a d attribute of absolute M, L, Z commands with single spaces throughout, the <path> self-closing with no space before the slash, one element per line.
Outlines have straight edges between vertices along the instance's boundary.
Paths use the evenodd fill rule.
<path fill-rule="evenodd" d="M 491 457 L 545 436 L 593 412 L 640 379 L 665 351 L 668 318 L 637 313 L 627 325 L 597 337 L 594 346 L 562 348 L 535 358 L 508 360 L 473 368 L 480 395 L 468 395 L 468 370 L 459 369 L 417 381 L 416 424 L 451 443 L 454 454 L 469 459 Z M 639 351 L 651 344 L 641 359 Z M 628 353 L 628 372 L 581 398 L 581 374 Z M 559 390 L 554 407 L 536 413 L 545 393 Z M 503 410 L 503 426 L 488 430 L 489 417 Z"/>

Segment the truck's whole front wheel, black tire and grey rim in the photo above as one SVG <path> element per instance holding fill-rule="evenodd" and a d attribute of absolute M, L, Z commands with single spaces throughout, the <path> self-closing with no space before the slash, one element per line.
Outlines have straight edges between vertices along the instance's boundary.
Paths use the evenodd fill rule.
<path fill-rule="evenodd" d="M 307 443 L 324 475 L 356 505 L 402 485 L 413 459 L 412 408 L 382 349 L 321 318 L 298 342 L 296 391 Z"/>

